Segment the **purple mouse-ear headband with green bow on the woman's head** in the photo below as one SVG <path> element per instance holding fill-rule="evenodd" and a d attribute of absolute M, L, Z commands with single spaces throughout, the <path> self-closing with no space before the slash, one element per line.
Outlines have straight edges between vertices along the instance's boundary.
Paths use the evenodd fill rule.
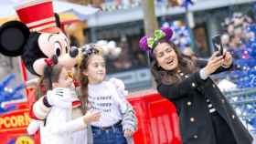
<path fill-rule="evenodd" d="M 144 51 L 153 51 L 160 40 L 169 41 L 173 36 L 173 30 L 170 27 L 163 26 L 154 32 L 154 36 L 143 36 L 140 39 L 140 48 Z"/>

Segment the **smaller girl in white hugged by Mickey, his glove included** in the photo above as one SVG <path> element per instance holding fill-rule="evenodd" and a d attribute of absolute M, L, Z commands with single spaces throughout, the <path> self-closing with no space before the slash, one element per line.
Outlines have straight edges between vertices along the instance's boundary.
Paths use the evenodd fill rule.
<path fill-rule="evenodd" d="M 45 68 L 43 86 L 48 90 L 48 103 L 52 108 L 44 124 L 40 123 L 42 144 L 86 144 L 87 124 L 101 117 L 101 114 L 95 111 L 88 111 L 82 116 L 80 100 L 71 85 L 72 78 L 69 77 L 65 67 L 48 66 Z M 55 102 L 50 99 L 54 99 Z M 37 125 L 38 120 L 33 121 L 27 129 L 28 132 L 36 132 Z"/>

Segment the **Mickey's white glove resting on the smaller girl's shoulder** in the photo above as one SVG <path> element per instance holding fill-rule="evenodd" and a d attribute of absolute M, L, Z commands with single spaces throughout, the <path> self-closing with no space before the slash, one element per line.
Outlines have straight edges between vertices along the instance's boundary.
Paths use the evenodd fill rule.
<path fill-rule="evenodd" d="M 69 88 L 54 88 L 47 93 L 48 104 L 59 108 L 72 108 L 72 98 L 76 92 Z"/>

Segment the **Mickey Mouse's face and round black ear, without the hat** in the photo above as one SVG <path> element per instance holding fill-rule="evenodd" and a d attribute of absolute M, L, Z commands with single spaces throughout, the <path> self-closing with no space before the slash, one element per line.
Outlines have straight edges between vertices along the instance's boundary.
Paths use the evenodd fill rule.
<path fill-rule="evenodd" d="M 58 64 L 73 67 L 78 50 L 70 48 L 69 39 L 58 27 L 46 32 L 32 32 L 21 22 L 11 21 L 0 27 L 0 52 L 5 56 L 21 56 L 27 69 L 41 76 L 46 58 L 58 57 Z"/>

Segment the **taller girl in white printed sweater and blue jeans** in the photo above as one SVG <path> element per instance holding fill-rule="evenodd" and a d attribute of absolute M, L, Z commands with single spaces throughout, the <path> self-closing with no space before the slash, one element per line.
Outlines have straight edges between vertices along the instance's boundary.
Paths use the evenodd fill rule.
<path fill-rule="evenodd" d="M 106 67 L 101 51 L 86 46 L 80 63 L 82 105 L 101 112 L 99 121 L 91 122 L 93 144 L 126 144 L 136 129 L 136 118 L 121 80 L 105 81 Z M 120 84 L 123 85 L 120 87 Z M 126 138 L 126 139 L 125 139 Z"/>

